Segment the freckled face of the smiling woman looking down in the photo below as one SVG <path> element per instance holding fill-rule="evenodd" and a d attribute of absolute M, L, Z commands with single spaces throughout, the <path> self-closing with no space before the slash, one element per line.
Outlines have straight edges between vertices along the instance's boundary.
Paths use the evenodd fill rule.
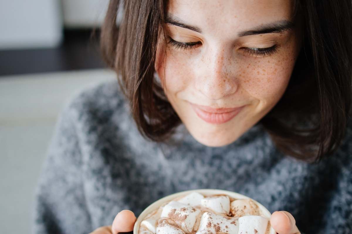
<path fill-rule="evenodd" d="M 155 68 L 197 141 L 234 142 L 282 97 L 301 48 L 292 11 L 287 0 L 169 1 Z"/>

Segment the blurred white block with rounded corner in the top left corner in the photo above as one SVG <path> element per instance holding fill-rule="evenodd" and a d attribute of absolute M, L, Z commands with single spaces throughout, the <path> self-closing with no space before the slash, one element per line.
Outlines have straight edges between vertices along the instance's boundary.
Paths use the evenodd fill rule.
<path fill-rule="evenodd" d="M 55 47 L 62 41 L 59 0 L 0 1 L 0 49 Z"/>

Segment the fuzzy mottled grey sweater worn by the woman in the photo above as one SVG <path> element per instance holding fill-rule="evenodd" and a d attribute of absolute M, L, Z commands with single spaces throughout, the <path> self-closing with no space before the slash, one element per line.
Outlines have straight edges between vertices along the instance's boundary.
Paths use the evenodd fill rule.
<path fill-rule="evenodd" d="M 117 81 L 75 95 L 62 111 L 38 183 L 34 233 L 89 233 L 122 209 L 138 215 L 189 189 L 238 192 L 270 212 L 287 210 L 302 233 L 352 233 L 352 127 L 320 163 L 280 153 L 257 124 L 224 147 L 197 142 L 184 125 L 166 145 L 137 131 Z"/>

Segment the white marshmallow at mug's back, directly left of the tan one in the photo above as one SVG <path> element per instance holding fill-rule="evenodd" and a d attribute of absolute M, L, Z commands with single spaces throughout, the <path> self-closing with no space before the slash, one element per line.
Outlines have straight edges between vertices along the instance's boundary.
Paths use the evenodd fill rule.
<path fill-rule="evenodd" d="M 201 204 L 205 208 L 213 210 L 215 213 L 230 214 L 230 198 L 228 196 L 213 196 L 203 198 Z"/>

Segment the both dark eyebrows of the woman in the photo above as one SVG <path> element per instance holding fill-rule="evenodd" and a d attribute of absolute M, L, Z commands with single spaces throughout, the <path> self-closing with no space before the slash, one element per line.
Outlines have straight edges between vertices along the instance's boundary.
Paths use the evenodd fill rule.
<path fill-rule="evenodd" d="M 197 33 L 202 33 L 202 30 L 199 27 L 188 25 L 183 22 L 180 18 L 177 18 L 174 15 L 166 14 L 165 17 L 165 24 L 174 25 L 182 28 L 190 29 Z M 254 27 L 252 29 L 239 32 L 237 36 L 249 36 L 249 35 L 256 35 L 256 34 L 264 34 L 264 33 L 284 33 L 286 31 L 290 31 L 293 29 L 295 24 L 289 20 L 278 20 L 275 22 L 271 22 L 269 24 L 260 25 Z"/>

